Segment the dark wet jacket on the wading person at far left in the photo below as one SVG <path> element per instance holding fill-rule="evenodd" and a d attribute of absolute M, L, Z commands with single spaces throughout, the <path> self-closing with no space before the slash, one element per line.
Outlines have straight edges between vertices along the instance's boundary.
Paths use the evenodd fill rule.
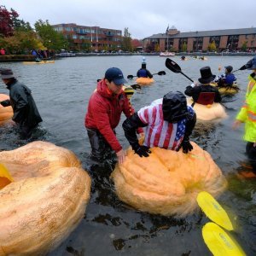
<path fill-rule="evenodd" d="M 33 128 L 42 122 L 36 103 L 33 100 L 31 90 L 26 85 L 14 79 L 7 84 L 9 89 L 10 105 L 14 110 L 15 123 Z"/>

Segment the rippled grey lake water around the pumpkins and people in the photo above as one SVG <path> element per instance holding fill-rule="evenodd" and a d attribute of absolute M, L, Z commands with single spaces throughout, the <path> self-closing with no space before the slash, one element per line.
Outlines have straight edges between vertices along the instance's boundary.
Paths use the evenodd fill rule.
<path fill-rule="evenodd" d="M 216 75 L 218 66 L 241 67 L 250 56 L 209 56 L 208 61 L 173 60 L 183 73 L 192 79 L 200 77 L 199 69 L 210 66 Z M 136 75 L 142 56 L 90 56 L 67 58 L 55 64 L 23 65 L 4 63 L 10 67 L 20 82 L 26 84 L 37 102 L 44 122 L 38 139 L 71 149 L 82 161 L 90 165 L 90 143 L 84 129 L 84 114 L 90 94 L 96 88 L 96 79 L 102 79 L 108 67 L 119 67 L 125 74 Z M 172 73 L 165 67 L 165 57 L 147 56 L 151 73 L 166 71 L 166 76 L 154 76 L 155 83 L 137 91 L 131 102 L 138 110 L 170 90 L 183 91 L 190 84 L 182 74 Z M 242 141 L 243 128 L 231 130 L 231 125 L 244 100 L 247 75 L 250 71 L 236 73 L 241 93 L 236 101 L 225 103 L 228 119 L 215 125 L 198 125 L 191 139 L 206 149 L 229 181 L 229 188 L 218 199 L 236 226 L 232 232 L 247 255 L 256 254 L 256 195 L 255 180 L 236 176 L 246 170 L 247 157 Z M 0 93 L 8 90 L 0 87 Z M 124 120 L 122 117 L 121 122 Z M 121 125 L 117 137 L 124 148 L 128 147 Z M 10 150 L 24 145 L 11 128 L 0 128 L 0 149 Z M 92 189 L 90 203 L 79 227 L 56 248 L 53 255 L 211 255 L 205 245 L 201 228 L 208 219 L 200 211 L 186 218 L 166 218 L 126 206 L 118 200 L 112 183 Z"/>

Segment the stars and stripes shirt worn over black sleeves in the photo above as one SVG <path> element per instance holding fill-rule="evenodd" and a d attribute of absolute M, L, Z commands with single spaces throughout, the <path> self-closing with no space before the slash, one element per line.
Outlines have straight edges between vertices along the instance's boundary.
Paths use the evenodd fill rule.
<path fill-rule="evenodd" d="M 163 118 L 162 102 L 163 99 L 158 99 L 137 112 L 139 119 L 148 125 L 145 131 L 144 145 L 149 148 L 160 147 L 176 150 L 183 141 L 186 122 L 188 119 L 193 119 L 195 112 L 188 106 L 189 116 L 187 119 L 169 123 Z"/>

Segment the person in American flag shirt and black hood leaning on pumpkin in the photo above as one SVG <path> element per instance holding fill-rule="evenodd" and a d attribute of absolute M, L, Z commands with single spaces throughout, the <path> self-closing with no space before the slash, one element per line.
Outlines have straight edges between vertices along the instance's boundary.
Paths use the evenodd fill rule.
<path fill-rule="evenodd" d="M 152 147 L 176 151 L 183 148 L 183 153 L 187 154 L 193 149 L 189 136 L 195 123 L 195 111 L 187 106 L 183 93 L 170 91 L 162 99 L 155 100 L 125 119 L 123 129 L 131 148 L 140 157 L 148 157 Z M 138 143 L 138 127 L 146 127 L 143 145 Z"/>

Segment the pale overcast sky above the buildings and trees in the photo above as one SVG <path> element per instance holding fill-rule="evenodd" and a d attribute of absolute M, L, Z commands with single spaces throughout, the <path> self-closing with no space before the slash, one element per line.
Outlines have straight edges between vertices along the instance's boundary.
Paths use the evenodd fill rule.
<path fill-rule="evenodd" d="M 20 19 L 33 26 L 76 23 L 119 29 L 128 27 L 131 38 L 146 38 L 166 32 L 169 25 L 180 32 L 256 26 L 255 0 L 3 0 Z"/>

